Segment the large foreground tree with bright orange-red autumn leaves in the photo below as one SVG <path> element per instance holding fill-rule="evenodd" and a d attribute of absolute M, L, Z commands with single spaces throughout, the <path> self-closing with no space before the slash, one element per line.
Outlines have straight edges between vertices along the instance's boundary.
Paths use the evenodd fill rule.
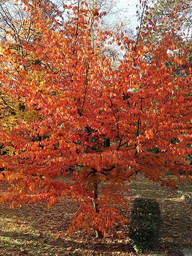
<path fill-rule="evenodd" d="M 38 118 L 20 116 L 11 129 L 1 127 L 0 141 L 12 154 L 0 155 L 5 169 L 0 179 L 10 184 L 0 201 L 11 207 L 47 201 L 52 207 L 71 196 L 80 208 L 69 231 L 93 227 L 97 237 L 106 236 L 114 223 L 127 223 L 116 207 L 126 207 L 118 191 L 137 173 L 162 186 L 191 181 L 188 49 L 181 37 L 174 41 L 176 26 L 155 43 L 147 39 L 152 31 L 147 22 L 137 40 L 101 31 L 103 14 L 89 13 L 87 1 L 68 2 L 61 11 L 51 2 L 22 3 L 28 13 L 23 20 L 31 20 L 35 36 L 26 41 L 19 31 L 18 52 L 11 39 L 1 43 L 1 88 L 13 99 L 19 95 Z M 99 51 L 109 34 L 108 43 L 124 53 L 116 69 Z M 177 66 L 184 76 L 177 75 Z M 58 179 L 70 170 L 72 182 Z"/>

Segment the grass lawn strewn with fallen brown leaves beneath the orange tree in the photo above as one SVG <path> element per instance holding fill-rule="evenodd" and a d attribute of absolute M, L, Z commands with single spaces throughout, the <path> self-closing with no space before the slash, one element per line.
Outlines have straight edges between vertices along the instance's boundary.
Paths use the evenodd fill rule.
<path fill-rule="evenodd" d="M 1 183 L 0 189 L 4 189 L 4 186 L 5 184 Z M 130 204 L 138 195 L 155 198 L 160 203 L 163 221 L 160 246 L 158 251 L 145 255 L 179 256 L 182 255 L 180 248 L 192 247 L 191 203 L 143 177 L 138 177 L 127 186 L 130 187 L 130 193 L 126 195 Z M 186 184 L 180 190 L 192 194 L 190 184 Z M 0 255 L 136 255 L 129 245 L 127 226 L 113 227 L 109 231 L 109 236 L 101 240 L 93 240 L 94 232 L 88 235 L 84 231 L 56 239 L 60 232 L 67 230 L 77 208 L 77 203 L 70 199 L 64 199 L 49 210 L 44 203 L 23 205 L 22 208 L 12 210 L 9 209 L 9 205 L 0 205 Z M 130 211 L 125 214 L 129 216 Z"/>

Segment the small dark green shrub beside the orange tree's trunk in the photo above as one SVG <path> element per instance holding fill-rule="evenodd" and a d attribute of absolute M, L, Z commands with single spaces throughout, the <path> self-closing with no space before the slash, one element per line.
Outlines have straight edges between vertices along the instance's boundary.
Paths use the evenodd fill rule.
<path fill-rule="evenodd" d="M 131 212 L 129 238 L 136 252 L 153 250 L 159 244 L 161 217 L 159 203 L 136 198 Z"/>

